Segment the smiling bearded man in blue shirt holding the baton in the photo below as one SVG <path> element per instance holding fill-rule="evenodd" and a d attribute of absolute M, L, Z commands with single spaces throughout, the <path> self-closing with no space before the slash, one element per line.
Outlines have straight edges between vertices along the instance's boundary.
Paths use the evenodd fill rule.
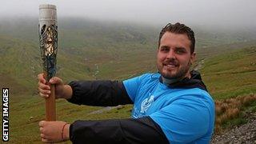
<path fill-rule="evenodd" d="M 52 78 L 56 97 L 75 104 L 117 106 L 133 103 L 132 118 L 39 122 L 42 142 L 74 143 L 209 143 L 214 130 L 214 101 L 194 62 L 194 32 L 176 23 L 166 25 L 158 41 L 158 73 L 123 82 L 70 82 Z M 38 89 L 43 98 L 50 87 L 42 74 Z"/>

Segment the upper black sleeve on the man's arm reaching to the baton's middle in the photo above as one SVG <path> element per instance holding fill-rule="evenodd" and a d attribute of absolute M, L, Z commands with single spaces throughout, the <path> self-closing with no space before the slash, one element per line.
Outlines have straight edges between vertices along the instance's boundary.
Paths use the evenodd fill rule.
<path fill-rule="evenodd" d="M 70 82 L 73 95 L 67 101 L 78 105 L 118 106 L 133 103 L 125 86 L 118 81 Z"/>

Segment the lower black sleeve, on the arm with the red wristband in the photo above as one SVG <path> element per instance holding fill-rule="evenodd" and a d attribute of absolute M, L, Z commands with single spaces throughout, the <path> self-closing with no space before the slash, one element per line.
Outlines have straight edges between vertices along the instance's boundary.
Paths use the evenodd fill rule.
<path fill-rule="evenodd" d="M 70 125 L 70 141 L 90 144 L 164 144 L 166 135 L 149 116 L 137 119 L 76 121 Z"/>

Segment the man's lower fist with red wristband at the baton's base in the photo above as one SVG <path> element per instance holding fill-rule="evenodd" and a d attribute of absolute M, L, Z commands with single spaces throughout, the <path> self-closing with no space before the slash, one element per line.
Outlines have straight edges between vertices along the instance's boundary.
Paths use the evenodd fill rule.
<path fill-rule="evenodd" d="M 70 139 L 70 124 L 62 121 L 39 122 L 42 142 L 63 142 Z"/>

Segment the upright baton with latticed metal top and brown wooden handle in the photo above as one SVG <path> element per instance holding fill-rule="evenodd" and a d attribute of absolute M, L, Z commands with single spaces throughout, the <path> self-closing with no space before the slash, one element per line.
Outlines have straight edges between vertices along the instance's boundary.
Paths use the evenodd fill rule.
<path fill-rule="evenodd" d="M 56 74 L 56 56 L 58 48 L 58 26 L 56 6 L 39 6 L 39 47 L 46 84 L 50 86 L 50 95 L 46 98 L 46 121 L 56 121 L 55 86 L 49 83 Z"/>

